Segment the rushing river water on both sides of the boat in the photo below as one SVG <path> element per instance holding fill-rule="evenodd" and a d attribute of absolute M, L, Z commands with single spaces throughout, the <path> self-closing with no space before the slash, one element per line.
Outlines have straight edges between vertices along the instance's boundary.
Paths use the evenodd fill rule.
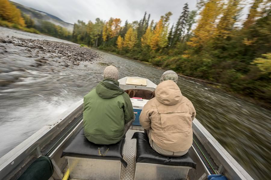
<path fill-rule="evenodd" d="M 0 38 L 14 36 L 65 42 L 2 27 L 0 31 Z M 0 44 L 8 49 L 7 53 L 0 54 L 0 67 L 8 63 L 13 70 L 5 75 L 19 74 L 20 79 L 0 87 L 0 157 L 83 98 L 102 79 L 105 66 L 116 66 L 120 78 L 141 76 L 156 84 L 163 73 L 137 61 L 97 50 L 101 56 L 97 61 L 81 62 L 79 66 L 68 68 L 52 63 L 52 71 L 51 66 L 31 67 L 33 60 L 26 58 L 23 48 Z M 178 85 L 182 94 L 194 104 L 196 118 L 235 160 L 254 179 L 271 179 L 271 111 L 189 79 L 180 77 Z"/>

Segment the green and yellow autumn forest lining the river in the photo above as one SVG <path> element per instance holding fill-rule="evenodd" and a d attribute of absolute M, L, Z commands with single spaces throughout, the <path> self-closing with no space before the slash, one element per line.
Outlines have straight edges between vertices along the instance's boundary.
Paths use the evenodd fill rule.
<path fill-rule="evenodd" d="M 200 0 L 196 10 L 185 3 L 177 22 L 171 12 L 151 20 L 111 17 L 78 20 L 73 32 L 51 22 L 34 22 L 7 0 L 0 0 L 0 25 L 43 33 L 144 61 L 179 74 L 222 84 L 220 88 L 271 104 L 271 3 Z"/>

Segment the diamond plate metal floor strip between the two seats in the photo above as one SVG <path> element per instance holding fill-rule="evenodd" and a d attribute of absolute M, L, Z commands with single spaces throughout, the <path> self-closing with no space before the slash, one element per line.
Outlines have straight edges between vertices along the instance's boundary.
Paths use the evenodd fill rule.
<path fill-rule="evenodd" d="M 134 179 L 134 159 L 136 152 L 136 139 L 132 139 L 132 136 L 138 130 L 129 129 L 126 133 L 125 144 L 123 147 L 123 159 L 128 163 L 128 166 L 124 168 L 121 166 L 120 179 L 121 180 L 133 180 Z M 143 132 L 143 131 L 142 131 Z"/>

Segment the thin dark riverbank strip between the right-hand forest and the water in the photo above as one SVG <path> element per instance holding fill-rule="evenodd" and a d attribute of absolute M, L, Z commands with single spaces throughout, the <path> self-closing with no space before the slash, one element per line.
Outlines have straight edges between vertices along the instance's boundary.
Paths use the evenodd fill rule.
<path fill-rule="evenodd" d="M 170 70 L 168 68 L 162 68 L 162 67 L 156 66 L 154 64 L 151 64 L 150 62 L 139 61 L 139 60 L 136 60 L 136 59 L 132 59 L 132 58 L 123 56 L 123 55 L 119 55 L 119 54 L 117 54 L 115 52 L 108 52 L 108 51 L 105 51 L 105 50 L 102 50 L 102 49 L 98 49 L 98 48 L 95 48 L 95 47 L 91 47 L 91 48 L 99 50 L 99 51 L 102 51 L 102 52 L 107 52 L 107 53 L 110 53 L 112 55 L 117 55 L 117 56 L 122 57 L 122 58 L 127 58 L 127 59 L 130 59 L 130 60 L 133 60 L 133 61 L 137 61 L 137 62 L 140 62 L 142 64 L 145 64 L 145 65 L 148 65 L 148 66 L 151 66 L 151 67 L 154 67 L 156 69 L 163 70 L 163 71 Z M 266 102 L 263 102 L 263 101 L 259 101 L 259 100 L 256 100 L 254 98 L 248 97 L 248 96 L 244 96 L 244 95 L 238 94 L 238 93 L 233 92 L 233 91 L 229 91 L 229 88 L 227 88 L 228 87 L 227 85 L 220 84 L 220 83 L 217 83 L 217 82 L 207 81 L 207 80 L 204 80 L 204 79 L 198 79 L 198 78 L 194 78 L 194 77 L 184 76 L 184 75 L 179 74 L 179 73 L 178 73 L 178 76 L 181 76 L 181 77 L 184 77 L 184 78 L 187 78 L 187 79 L 191 79 L 191 80 L 193 80 L 195 82 L 204 83 L 204 84 L 206 84 L 208 86 L 211 86 L 212 88 L 217 88 L 220 91 L 223 91 L 224 93 L 232 95 L 232 96 L 234 96 L 236 98 L 240 98 L 240 99 L 242 99 L 244 101 L 251 102 L 251 103 L 253 103 L 255 105 L 259 105 L 259 106 L 265 107 L 265 108 L 271 108 L 271 104 L 269 104 L 269 103 L 266 103 Z"/>

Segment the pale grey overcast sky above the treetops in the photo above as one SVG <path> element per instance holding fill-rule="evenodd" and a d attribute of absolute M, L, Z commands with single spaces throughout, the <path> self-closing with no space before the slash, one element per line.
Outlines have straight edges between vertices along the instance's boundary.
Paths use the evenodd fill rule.
<path fill-rule="evenodd" d="M 124 24 L 142 19 L 144 12 L 158 21 L 160 16 L 171 11 L 171 24 L 175 23 L 187 2 L 189 10 L 196 9 L 197 0 L 12 0 L 19 4 L 57 16 L 65 22 L 74 23 L 78 19 L 85 22 L 99 17 L 108 20 L 120 18 Z"/>

